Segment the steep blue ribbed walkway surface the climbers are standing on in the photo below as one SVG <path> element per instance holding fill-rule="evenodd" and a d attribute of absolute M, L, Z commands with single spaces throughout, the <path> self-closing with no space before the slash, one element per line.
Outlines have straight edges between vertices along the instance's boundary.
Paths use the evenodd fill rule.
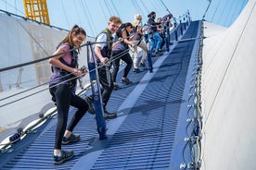
<path fill-rule="evenodd" d="M 199 21 L 191 22 L 183 36 L 187 41 L 177 42 L 169 53 L 152 58 L 153 73 L 131 70 L 128 77 L 134 83 L 113 91 L 108 109 L 118 110 L 118 117 L 107 121 L 108 140 L 98 140 L 96 119 L 86 114 L 74 129 L 82 139 L 63 146 L 75 152 L 74 158 L 54 165 L 57 119 L 52 117 L 13 145 L 14 152 L 0 154 L 0 169 L 177 169 L 185 160 L 171 164 L 172 155 L 179 145 L 175 139 L 185 137 L 176 131 L 177 125 L 186 127 L 186 121 L 180 122 L 179 117 L 186 103 L 186 77 L 199 26 Z M 117 79 L 121 76 L 122 71 Z M 74 111 L 71 107 L 70 116 Z"/>

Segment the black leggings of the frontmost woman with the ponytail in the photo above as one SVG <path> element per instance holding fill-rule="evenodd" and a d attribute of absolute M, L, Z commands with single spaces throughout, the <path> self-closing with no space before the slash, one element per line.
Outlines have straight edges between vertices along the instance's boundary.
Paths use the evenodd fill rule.
<path fill-rule="evenodd" d="M 65 84 L 60 84 L 58 87 L 50 88 L 50 93 L 56 100 L 58 111 L 55 149 L 61 150 L 61 142 L 67 128 L 70 105 L 78 108 L 70 121 L 69 127 L 67 128 L 68 130 L 72 131 L 88 110 L 88 104 L 78 95 L 72 94 L 69 86 Z"/>

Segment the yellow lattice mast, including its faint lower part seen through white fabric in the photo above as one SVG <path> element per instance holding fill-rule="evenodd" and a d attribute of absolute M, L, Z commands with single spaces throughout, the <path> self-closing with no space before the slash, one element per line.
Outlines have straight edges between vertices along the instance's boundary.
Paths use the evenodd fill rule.
<path fill-rule="evenodd" d="M 23 0 L 24 10 L 26 18 L 50 25 L 50 19 L 48 15 L 48 9 L 46 0 Z M 52 48 L 51 41 L 47 41 L 47 35 L 45 31 L 38 33 L 37 25 L 28 26 L 28 30 L 31 33 L 31 46 L 32 46 L 32 58 L 34 60 L 40 59 L 48 55 L 45 52 L 49 52 Z M 34 41 L 36 40 L 36 42 Z M 40 44 L 40 45 L 39 45 Z M 48 81 L 50 76 L 50 67 L 47 62 L 39 62 L 34 64 L 35 76 L 38 84 L 43 84 Z"/>

